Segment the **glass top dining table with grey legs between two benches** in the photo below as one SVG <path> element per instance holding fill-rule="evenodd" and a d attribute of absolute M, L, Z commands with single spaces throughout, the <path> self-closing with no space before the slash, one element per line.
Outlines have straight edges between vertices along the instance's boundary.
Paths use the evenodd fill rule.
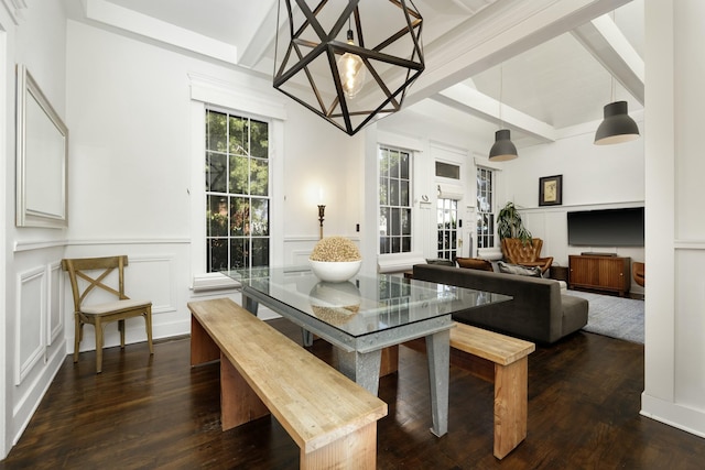
<path fill-rule="evenodd" d="M 432 433 L 447 431 L 449 329 L 455 311 L 511 297 L 390 274 L 359 274 L 340 283 L 318 280 L 308 266 L 254 267 L 224 272 L 241 284 L 242 304 L 259 304 L 335 348 L 338 369 L 377 395 L 381 351 L 425 338 L 432 396 Z"/>

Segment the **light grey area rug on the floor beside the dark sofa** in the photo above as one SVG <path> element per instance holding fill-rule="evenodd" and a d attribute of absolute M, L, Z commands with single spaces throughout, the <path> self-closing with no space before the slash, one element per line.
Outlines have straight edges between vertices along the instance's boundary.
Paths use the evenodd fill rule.
<path fill-rule="evenodd" d="M 589 302 L 585 331 L 643 345 L 643 300 L 568 291 Z"/>

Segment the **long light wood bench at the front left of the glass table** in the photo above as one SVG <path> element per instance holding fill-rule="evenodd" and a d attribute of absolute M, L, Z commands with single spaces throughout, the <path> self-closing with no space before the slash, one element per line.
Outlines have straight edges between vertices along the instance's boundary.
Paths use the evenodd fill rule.
<path fill-rule="evenodd" d="M 220 359 L 223 430 L 271 413 L 302 469 L 376 467 L 384 402 L 228 298 L 188 308 L 192 365 Z"/>

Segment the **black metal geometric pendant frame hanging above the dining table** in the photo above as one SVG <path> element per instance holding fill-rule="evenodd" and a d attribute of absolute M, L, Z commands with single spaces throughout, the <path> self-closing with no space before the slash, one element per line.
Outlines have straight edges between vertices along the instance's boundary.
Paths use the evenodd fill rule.
<path fill-rule="evenodd" d="M 388 1 L 399 8 L 400 14 L 403 14 L 404 18 L 403 22 L 405 23 L 405 28 L 393 31 L 389 37 L 370 48 L 366 47 L 365 43 L 366 34 L 362 29 L 362 19 L 360 18 L 359 10 L 360 0 L 348 0 L 347 6 L 343 9 L 339 18 L 335 21 L 329 31 L 325 31 L 324 26 L 316 18 L 326 8 L 329 0 L 321 0 L 314 9 L 311 9 L 307 6 L 306 0 L 294 1 L 301 13 L 305 17 L 305 20 L 297 29 L 295 29 L 292 1 L 284 0 L 288 10 L 288 29 L 291 40 L 289 41 L 289 45 L 282 57 L 281 64 L 278 64 L 276 62 L 275 51 L 274 88 L 326 119 L 328 122 L 333 123 L 349 135 L 357 133 L 360 129 L 370 123 L 378 114 L 399 111 L 406 95 L 406 90 L 421 75 L 425 67 L 423 46 L 421 43 L 423 19 L 412 0 L 375 0 L 380 2 Z M 359 45 L 348 44 L 347 42 L 336 40 L 341 30 L 346 28 L 347 23 L 351 21 L 351 19 L 355 23 L 355 37 Z M 316 41 L 302 37 L 304 32 L 311 34 L 312 30 L 315 32 Z M 401 39 L 406 41 L 409 39 L 411 40 L 410 43 L 412 44 L 412 50 L 410 51 L 408 58 L 384 52 L 387 47 L 394 45 Z M 279 37 L 275 48 L 278 45 Z M 371 80 L 373 80 L 377 87 L 379 87 L 375 88 L 375 91 L 380 95 L 381 100 L 377 100 L 371 106 L 365 106 L 361 109 L 356 108 L 354 102 L 348 101 L 349 98 L 345 96 L 337 68 L 337 58 L 345 53 L 356 54 L 362 59 L 369 76 L 371 76 Z M 333 81 L 333 86 L 335 88 L 335 92 L 329 92 L 328 97 L 324 96 L 318 86 L 322 79 L 321 74 L 316 76 L 312 69 L 312 63 L 322 54 L 326 55 L 330 73 L 329 76 L 325 76 L 325 80 L 328 80 L 326 85 L 330 87 L 330 81 Z M 403 83 L 400 86 L 390 87 L 389 84 L 384 83 L 382 78 L 383 72 L 379 69 L 378 65 L 380 67 L 393 66 L 397 74 L 403 73 Z M 304 74 L 305 78 L 301 77 L 301 74 Z M 302 96 L 305 94 L 296 92 L 296 86 L 293 86 L 293 81 L 290 81 L 293 80 L 294 77 L 304 78 L 300 81 L 304 81 L 308 87 L 311 87 L 310 90 L 306 90 L 306 92 L 310 94 L 308 101 L 311 102 Z M 285 88 L 286 85 L 289 85 L 289 89 Z M 355 99 L 364 100 L 365 90 L 367 88 L 368 84 L 365 85 L 365 88 L 360 92 L 362 98 Z M 330 90 L 333 90 L 333 87 Z M 357 105 L 357 102 L 355 102 L 355 105 Z M 355 118 L 355 122 L 352 118 Z"/>

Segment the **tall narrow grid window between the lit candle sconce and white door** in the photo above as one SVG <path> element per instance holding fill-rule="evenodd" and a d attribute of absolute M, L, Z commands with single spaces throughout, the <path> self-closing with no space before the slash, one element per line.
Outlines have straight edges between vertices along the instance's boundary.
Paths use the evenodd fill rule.
<path fill-rule="evenodd" d="M 411 155 L 379 150 L 379 252 L 411 252 Z"/>

